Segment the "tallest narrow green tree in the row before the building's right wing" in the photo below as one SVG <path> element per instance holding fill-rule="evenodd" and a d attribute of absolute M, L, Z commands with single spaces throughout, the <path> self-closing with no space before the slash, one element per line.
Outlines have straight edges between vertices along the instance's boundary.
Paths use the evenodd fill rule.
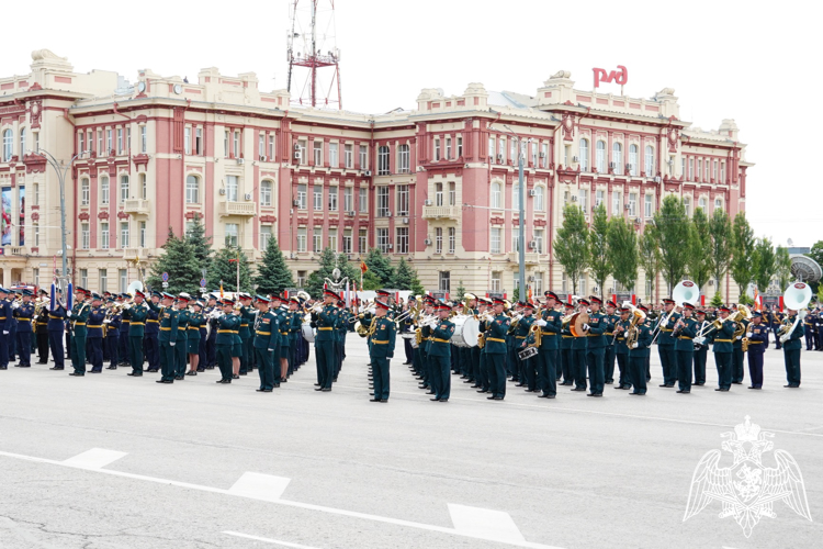
<path fill-rule="evenodd" d="M 654 225 L 659 239 L 661 271 L 670 293 L 683 280 L 688 265 L 689 217 L 683 201 L 674 194 L 664 198 L 663 205 L 654 214 Z"/>

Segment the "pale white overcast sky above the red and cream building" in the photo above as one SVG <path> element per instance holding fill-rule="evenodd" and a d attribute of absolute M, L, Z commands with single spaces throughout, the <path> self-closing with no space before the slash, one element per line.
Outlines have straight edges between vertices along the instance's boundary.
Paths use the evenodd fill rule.
<path fill-rule="evenodd" d="M 43 0 L 33 11 L 10 3 L 3 19 L 19 24 L 3 29 L 0 75 L 30 72 L 31 52 L 48 48 L 76 71 L 114 70 L 132 81 L 149 68 L 193 82 L 200 69 L 218 67 L 229 76 L 257 72 L 263 91 L 281 89 L 288 5 Z M 757 236 L 796 246 L 823 239 L 823 186 L 814 169 L 823 125 L 814 102 L 823 80 L 815 63 L 819 2 L 336 0 L 335 7 L 347 110 L 412 109 L 422 88 L 461 94 L 469 82 L 534 94 L 557 70 L 571 70 L 575 87 L 589 90 L 591 68 L 623 65 L 627 96 L 674 88 L 683 120 L 703 130 L 736 121 L 755 164 L 746 211 Z M 600 89 L 619 93 L 617 85 Z"/>

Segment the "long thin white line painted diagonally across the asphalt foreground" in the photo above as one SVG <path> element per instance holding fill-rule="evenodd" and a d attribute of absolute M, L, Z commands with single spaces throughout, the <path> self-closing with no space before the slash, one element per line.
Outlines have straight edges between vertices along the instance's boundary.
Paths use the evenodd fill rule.
<path fill-rule="evenodd" d="M 37 458 L 34 456 L 24 456 L 22 453 L 0 451 L 0 456 L 7 457 L 7 458 L 21 459 L 24 461 L 31 461 L 34 463 L 47 463 L 52 466 L 69 467 L 72 469 L 80 469 L 80 470 L 84 470 L 88 472 L 110 474 L 112 477 L 121 477 L 123 479 L 139 480 L 139 481 L 145 481 L 145 482 L 155 482 L 157 484 L 165 484 L 168 486 L 178 486 L 178 488 L 183 488 L 188 490 L 198 490 L 201 492 L 210 492 L 213 494 L 233 495 L 237 497 L 249 497 L 248 495 L 244 493 L 235 493 L 235 492 L 232 492 L 230 490 L 225 490 L 221 488 L 204 486 L 201 484 L 191 484 L 189 482 L 172 481 L 168 479 L 158 479 L 157 477 L 147 477 L 145 474 L 126 473 L 123 471 L 115 471 L 112 469 L 92 469 L 88 467 L 80 467 L 80 466 L 67 463 L 66 461 L 57 461 L 54 459 Z M 416 528 L 419 530 L 437 531 L 441 534 L 449 534 L 452 536 L 460 536 L 464 538 L 483 539 L 486 541 L 499 541 L 498 539 L 491 539 L 483 534 L 477 534 L 474 531 L 464 531 L 464 530 L 460 530 L 456 528 L 446 528 L 443 526 L 436 526 L 431 524 L 415 523 L 413 520 L 404 520 L 402 518 L 392 518 L 392 517 L 380 516 L 380 515 L 370 515 L 368 513 L 360 513 L 357 511 L 346 511 L 346 509 L 338 509 L 335 507 L 325 507 L 323 505 L 314 505 L 312 503 L 300 503 L 300 502 L 292 502 L 289 500 L 273 500 L 270 503 L 273 505 L 284 505 L 286 507 L 294 507 L 294 508 L 306 509 L 306 511 L 315 511 L 318 513 L 327 513 L 329 515 L 338 515 L 338 516 L 346 516 L 350 518 L 359 518 L 362 520 L 372 520 L 375 523 L 392 524 L 395 526 L 403 526 L 406 528 Z M 533 544 L 531 541 L 511 540 L 511 541 L 505 541 L 505 544 L 515 546 L 515 547 L 528 547 L 530 549 L 561 549 L 554 546 Z"/>

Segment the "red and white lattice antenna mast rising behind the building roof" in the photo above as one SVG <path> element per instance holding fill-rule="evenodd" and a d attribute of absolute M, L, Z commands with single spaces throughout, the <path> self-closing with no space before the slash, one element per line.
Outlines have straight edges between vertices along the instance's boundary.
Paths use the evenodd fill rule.
<path fill-rule="evenodd" d="M 289 93 L 292 103 L 311 107 L 336 104 L 342 109 L 340 93 L 340 51 L 336 44 L 335 0 L 289 0 Z M 302 87 L 295 86 L 295 68 L 308 72 Z M 322 68 L 334 68 L 328 87 L 320 81 Z M 294 89 L 294 91 L 292 91 Z"/>

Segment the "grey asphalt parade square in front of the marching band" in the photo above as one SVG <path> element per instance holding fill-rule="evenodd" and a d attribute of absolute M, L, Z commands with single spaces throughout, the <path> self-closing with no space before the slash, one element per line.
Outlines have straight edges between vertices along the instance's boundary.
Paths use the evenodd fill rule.
<path fill-rule="evenodd" d="M 369 402 L 367 349 L 330 393 L 309 363 L 273 393 L 213 371 L 173 385 L 127 370 L 70 378 L 0 371 L 0 548 L 802 548 L 823 539 L 823 352 L 783 389 L 767 351 L 763 391 L 717 381 L 689 395 L 604 399 L 509 383 L 489 402 L 452 377 L 429 402 L 392 361 Z M 215 370 L 216 371 L 216 370 Z M 746 373 L 746 380 L 748 373 Z M 751 536 L 712 502 L 684 522 L 692 473 L 744 416 L 797 460 L 813 522 L 774 504 Z M 731 464 L 723 452 L 722 467 Z M 764 453 L 774 467 L 774 452 Z"/>

